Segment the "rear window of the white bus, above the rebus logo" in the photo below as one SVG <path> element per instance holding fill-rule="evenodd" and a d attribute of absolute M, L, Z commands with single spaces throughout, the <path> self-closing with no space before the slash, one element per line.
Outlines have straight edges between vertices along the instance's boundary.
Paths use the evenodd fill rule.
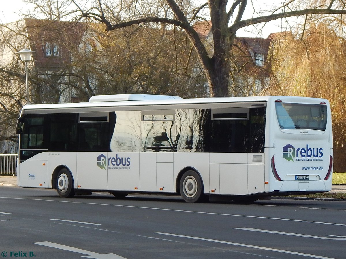
<path fill-rule="evenodd" d="M 326 130 L 326 105 L 276 102 L 275 110 L 281 130 Z"/>

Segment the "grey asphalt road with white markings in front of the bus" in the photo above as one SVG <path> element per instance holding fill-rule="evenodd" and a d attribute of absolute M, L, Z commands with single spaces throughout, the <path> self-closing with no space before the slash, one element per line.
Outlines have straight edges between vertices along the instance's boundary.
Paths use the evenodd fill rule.
<path fill-rule="evenodd" d="M 346 202 L 189 204 L 0 187 L 3 258 L 345 258 Z"/>

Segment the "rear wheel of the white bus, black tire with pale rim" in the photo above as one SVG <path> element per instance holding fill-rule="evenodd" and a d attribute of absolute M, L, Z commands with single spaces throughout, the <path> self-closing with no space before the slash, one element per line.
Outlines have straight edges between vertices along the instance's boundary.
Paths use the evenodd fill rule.
<path fill-rule="evenodd" d="M 180 195 L 186 202 L 200 202 L 204 198 L 202 180 L 199 174 L 193 170 L 183 174 L 179 188 Z"/>

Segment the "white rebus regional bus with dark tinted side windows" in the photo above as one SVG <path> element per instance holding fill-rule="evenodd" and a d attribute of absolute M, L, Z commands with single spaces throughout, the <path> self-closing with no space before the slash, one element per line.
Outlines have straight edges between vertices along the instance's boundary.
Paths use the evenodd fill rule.
<path fill-rule="evenodd" d="M 25 105 L 18 186 L 234 201 L 331 190 L 328 100 L 100 95 Z"/>

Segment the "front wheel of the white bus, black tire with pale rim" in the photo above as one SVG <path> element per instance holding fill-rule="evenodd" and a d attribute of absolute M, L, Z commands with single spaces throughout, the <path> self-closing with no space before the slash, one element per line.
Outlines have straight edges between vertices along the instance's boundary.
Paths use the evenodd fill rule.
<path fill-rule="evenodd" d="M 52 176 L 52 186 L 62 198 L 71 198 L 74 196 L 74 182 L 72 174 L 65 166 L 57 167 Z"/>

